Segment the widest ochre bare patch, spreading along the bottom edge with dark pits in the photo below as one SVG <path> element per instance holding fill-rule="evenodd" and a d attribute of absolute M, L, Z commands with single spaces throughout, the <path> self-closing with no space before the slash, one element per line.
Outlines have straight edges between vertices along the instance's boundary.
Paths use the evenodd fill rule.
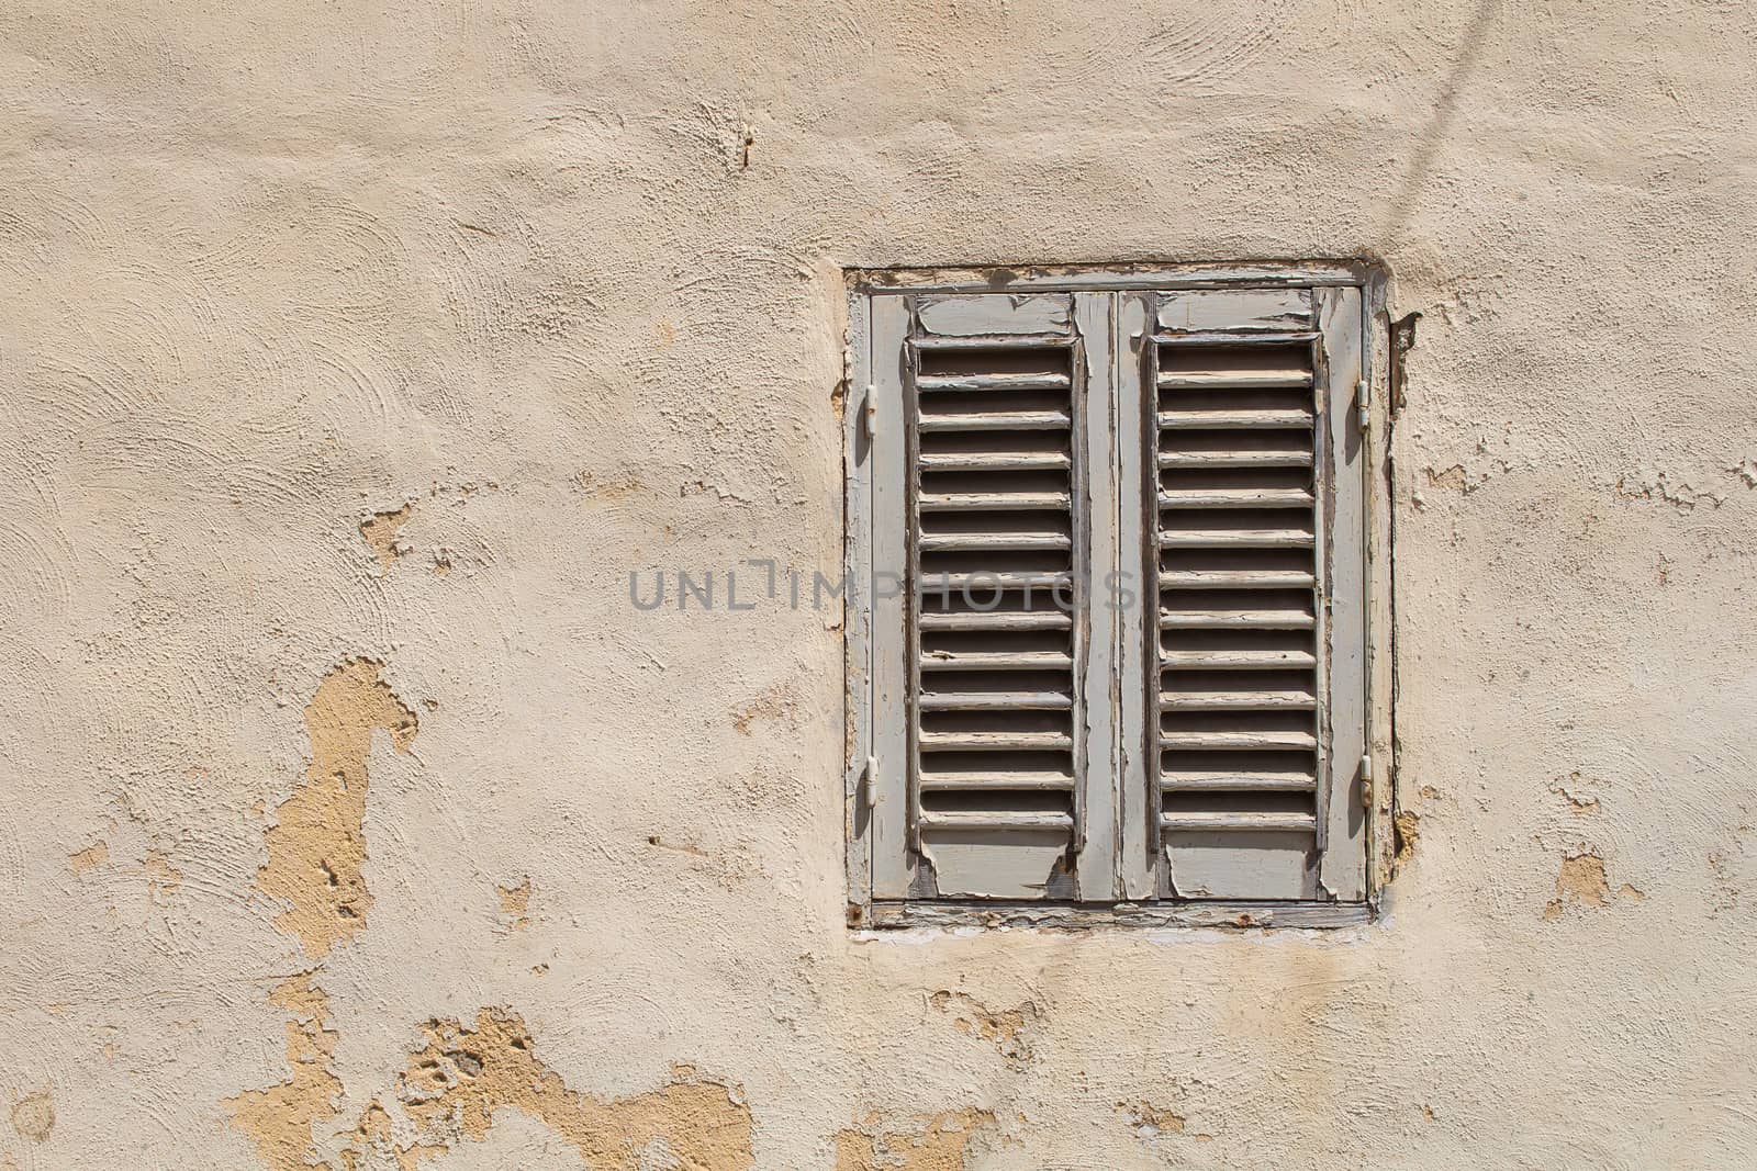
<path fill-rule="evenodd" d="M 647 1155 L 662 1150 L 678 1171 L 745 1171 L 750 1150 L 750 1108 L 741 1092 L 699 1078 L 689 1066 L 648 1094 L 606 1103 L 569 1090 L 560 1074 L 536 1055 L 525 1022 L 506 1008 L 483 1008 L 473 1029 L 457 1020 L 430 1020 L 425 1045 L 397 1078 L 397 1099 L 415 1124 L 408 1145 L 392 1141 L 388 1115 L 374 1103 L 355 1127 L 343 1167 L 365 1166 L 367 1152 L 390 1155 L 415 1171 L 430 1155 L 460 1141 L 481 1141 L 497 1110 L 525 1113 L 566 1139 L 587 1171 L 645 1171 Z"/>

